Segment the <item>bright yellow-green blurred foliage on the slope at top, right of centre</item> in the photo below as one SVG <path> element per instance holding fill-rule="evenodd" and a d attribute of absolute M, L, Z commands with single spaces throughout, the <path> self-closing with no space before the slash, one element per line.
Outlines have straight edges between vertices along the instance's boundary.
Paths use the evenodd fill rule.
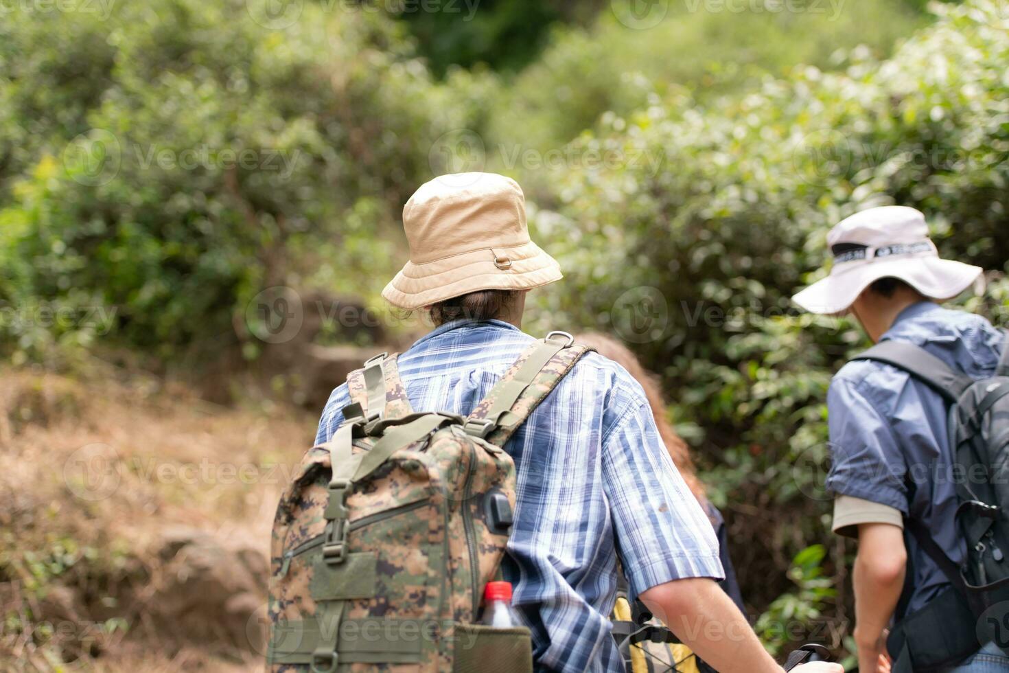
<path fill-rule="evenodd" d="M 629 114 L 656 92 L 684 89 L 710 99 L 796 64 L 836 68 L 858 45 L 885 55 L 924 23 L 920 9 L 903 0 L 795 4 L 807 11 L 784 11 L 785 3 L 773 0 L 684 0 L 651 3 L 644 14 L 631 13 L 631 0 L 611 4 L 589 29 L 557 26 L 542 57 L 502 91 L 499 106 L 509 113 L 491 124 L 495 142 L 518 141 L 519 128 L 527 146 L 556 148 L 604 112 Z M 656 25 L 652 13 L 663 17 Z"/>

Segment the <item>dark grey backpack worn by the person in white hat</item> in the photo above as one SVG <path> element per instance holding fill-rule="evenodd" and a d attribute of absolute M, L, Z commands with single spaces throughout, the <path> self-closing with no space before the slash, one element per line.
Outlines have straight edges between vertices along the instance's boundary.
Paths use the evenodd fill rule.
<path fill-rule="evenodd" d="M 904 615 L 892 631 L 894 673 L 938 670 L 989 642 L 1009 651 L 1009 338 L 996 375 L 985 380 L 897 341 L 884 341 L 854 359 L 893 365 L 945 399 L 956 519 L 967 541 L 967 560 L 958 567 L 920 522 L 905 522 L 955 590 Z"/>

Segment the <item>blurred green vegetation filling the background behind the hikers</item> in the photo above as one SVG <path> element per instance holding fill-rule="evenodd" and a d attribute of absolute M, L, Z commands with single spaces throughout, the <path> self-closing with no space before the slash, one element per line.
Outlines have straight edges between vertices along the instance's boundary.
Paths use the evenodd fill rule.
<path fill-rule="evenodd" d="M 317 414 L 292 362 L 320 346 L 403 347 L 419 329 L 377 297 L 406 254 L 410 194 L 440 173 L 504 173 L 566 275 L 536 294 L 527 331 L 614 333 L 660 374 L 725 512 L 762 637 L 775 651 L 801 640 L 844 651 L 852 549 L 830 535 L 820 489 L 823 400 L 864 337 L 845 320 L 797 315 L 787 298 L 818 277 L 832 223 L 897 203 L 927 214 L 943 253 L 991 270 L 987 294 L 960 303 L 1006 324 L 1004 0 L 162 0 L 0 12 L 10 375 L 104 380 L 101 362 L 126 385 L 182 380 L 253 418 L 282 402 Z M 277 286 L 306 314 L 342 304 L 380 325 L 329 315 L 307 340 L 270 343 L 249 308 Z M 245 385 L 256 374 L 259 395 Z M 7 410 L 8 446 L 38 420 L 32 400 Z M 279 412 L 289 422 L 303 413 L 291 409 Z M 270 459 L 297 459 L 315 430 L 305 418 L 303 436 L 286 435 L 292 446 L 264 449 Z M 25 507 L 35 506 L 0 504 L 17 531 L 17 544 L 0 541 L 5 582 L 37 580 L 31 559 L 53 556 L 51 526 L 21 522 Z M 100 575 L 81 550 L 101 556 L 108 540 L 64 534 L 92 537 L 69 557 L 59 543 L 61 573 L 78 568 L 61 581 Z M 25 626 L 45 616 L 40 603 L 4 598 L 6 633 L 45 651 Z M 99 657 L 60 657 L 85 655 Z"/>

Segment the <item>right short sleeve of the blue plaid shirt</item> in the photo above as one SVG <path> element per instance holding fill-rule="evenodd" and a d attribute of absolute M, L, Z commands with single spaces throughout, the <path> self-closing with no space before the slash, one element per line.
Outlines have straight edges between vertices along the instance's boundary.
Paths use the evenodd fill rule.
<path fill-rule="evenodd" d="M 602 477 L 632 601 L 675 579 L 724 578 L 711 522 L 673 465 L 647 403 L 603 436 Z"/>

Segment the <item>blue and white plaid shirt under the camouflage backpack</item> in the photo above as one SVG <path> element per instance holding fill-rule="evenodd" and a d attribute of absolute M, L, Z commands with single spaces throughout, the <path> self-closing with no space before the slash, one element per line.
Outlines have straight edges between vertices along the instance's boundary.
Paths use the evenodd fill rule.
<path fill-rule="evenodd" d="M 532 341 L 499 321 L 439 327 L 400 356 L 410 404 L 469 414 Z M 318 442 L 348 404 L 344 384 Z M 608 620 L 618 556 L 632 598 L 674 579 L 723 577 L 710 521 L 673 466 L 644 390 L 615 362 L 586 355 L 504 448 L 518 507 L 502 570 L 537 670 L 624 670 Z"/>

